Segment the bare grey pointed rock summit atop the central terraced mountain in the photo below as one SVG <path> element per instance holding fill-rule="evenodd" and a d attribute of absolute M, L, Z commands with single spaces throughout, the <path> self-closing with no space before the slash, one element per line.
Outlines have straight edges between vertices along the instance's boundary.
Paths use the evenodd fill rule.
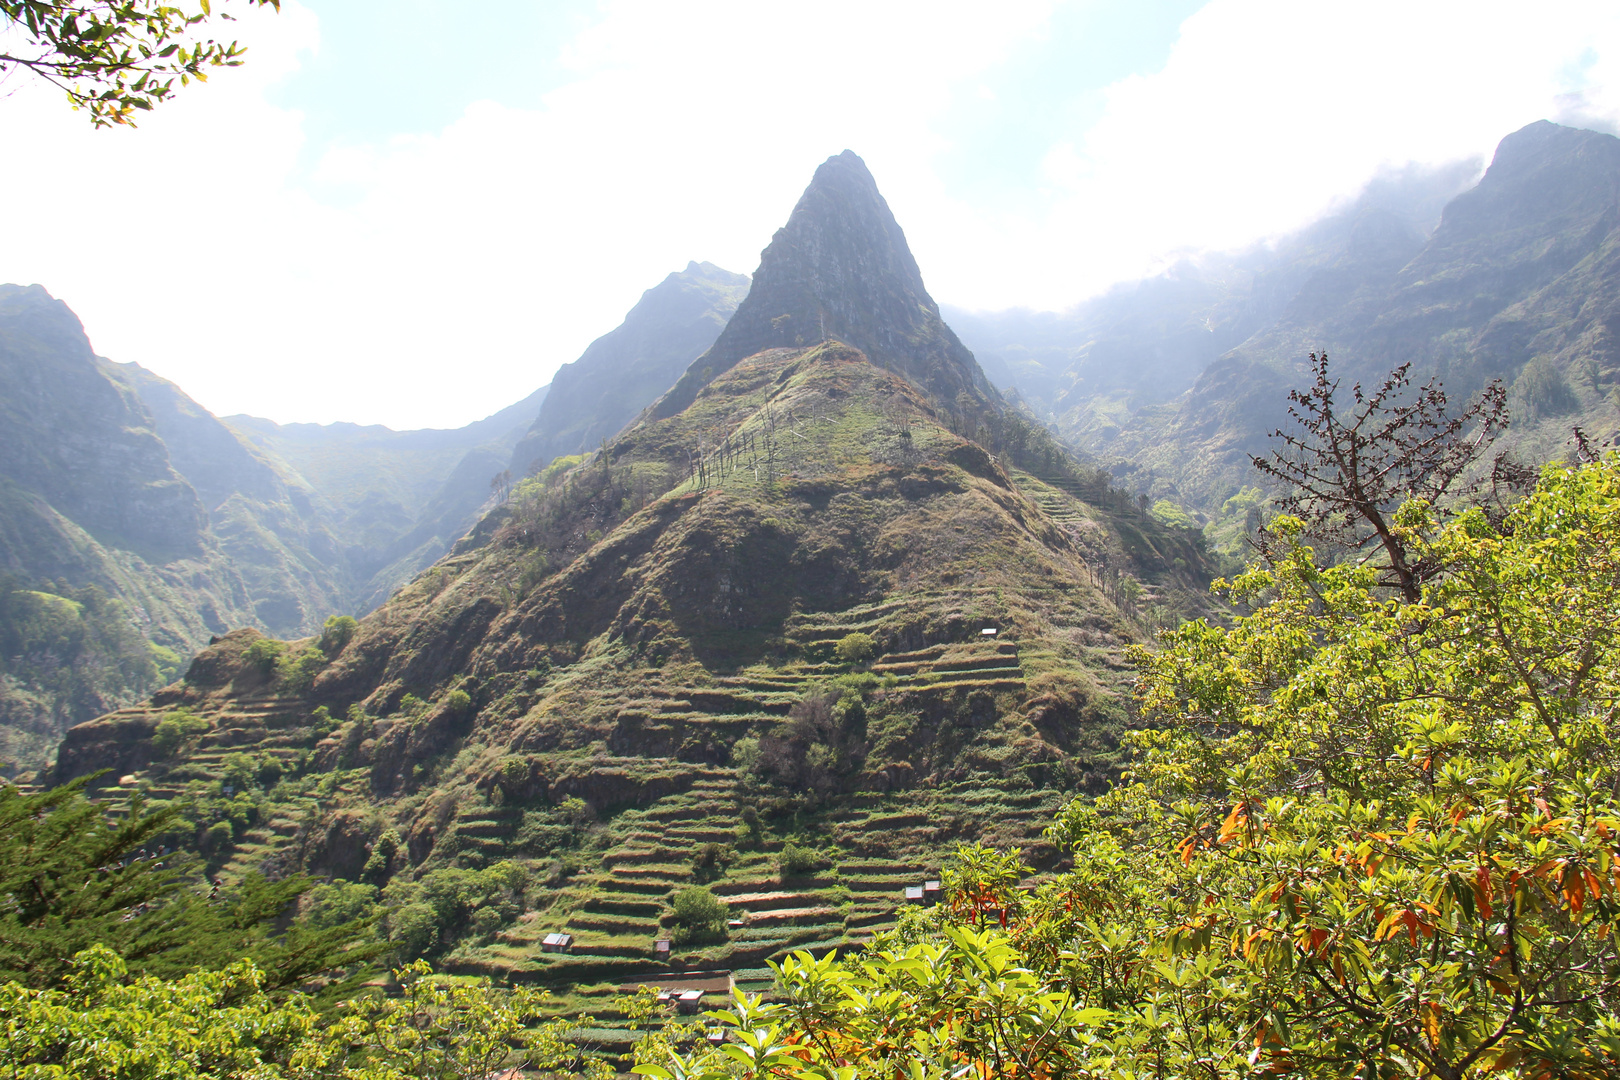
<path fill-rule="evenodd" d="M 760 254 L 748 298 L 653 416 L 687 408 L 745 356 L 828 340 L 854 345 L 949 408 L 959 395 L 975 410 L 1000 402 L 978 361 L 940 317 L 906 233 L 867 164 L 850 151 L 816 168 L 787 223 Z"/>

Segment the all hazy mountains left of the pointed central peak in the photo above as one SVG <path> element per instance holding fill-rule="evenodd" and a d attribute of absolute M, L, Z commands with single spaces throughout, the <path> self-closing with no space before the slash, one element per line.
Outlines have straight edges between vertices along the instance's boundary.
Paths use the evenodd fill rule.
<path fill-rule="evenodd" d="M 480 520 L 492 478 L 588 450 L 648 406 L 719 335 L 747 280 L 710 264 L 671 274 L 549 387 L 444 431 L 217 418 L 139 364 L 96 356 L 42 287 L 0 285 L 0 585 L 68 602 L 99 588 L 178 661 L 238 627 L 298 638 L 366 614 Z M 0 759 L 37 763 L 162 669 L 97 680 L 92 695 L 50 690 L 63 664 L 104 661 L 37 622 L 0 627 Z"/>

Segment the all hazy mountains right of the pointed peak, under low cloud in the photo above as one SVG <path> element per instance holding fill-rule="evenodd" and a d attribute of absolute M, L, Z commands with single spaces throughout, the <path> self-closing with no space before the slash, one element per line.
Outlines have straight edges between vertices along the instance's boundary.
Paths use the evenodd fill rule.
<path fill-rule="evenodd" d="M 1411 363 L 1453 397 L 1511 387 L 1503 444 L 1620 427 L 1620 139 L 1541 121 L 1484 176 L 1371 186 L 1275 246 L 1205 256 L 1063 314 L 948 313 L 987 371 L 1128 486 L 1205 515 L 1252 484 L 1304 361 L 1346 385 Z"/>

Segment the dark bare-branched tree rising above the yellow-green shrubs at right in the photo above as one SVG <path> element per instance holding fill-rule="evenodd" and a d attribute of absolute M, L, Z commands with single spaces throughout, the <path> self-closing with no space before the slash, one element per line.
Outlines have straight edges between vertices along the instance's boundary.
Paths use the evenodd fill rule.
<path fill-rule="evenodd" d="M 1340 411 L 1327 353 L 1311 353 L 1311 366 L 1312 385 L 1288 393 L 1298 429 L 1273 431 L 1283 445 L 1251 460 L 1281 481 L 1278 508 L 1301 518 L 1309 536 L 1382 552 L 1383 583 L 1414 602 L 1439 567 L 1413 552 L 1390 518 L 1409 499 L 1450 512 L 1447 495 L 1458 494 L 1453 487 L 1507 427 L 1507 390 L 1492 381 L 1453 416 L 1435 379 L 1408 400 L 1411 364 L 1401 364 L 1371 393 L 1353 385 L 1353 405 Z"/>

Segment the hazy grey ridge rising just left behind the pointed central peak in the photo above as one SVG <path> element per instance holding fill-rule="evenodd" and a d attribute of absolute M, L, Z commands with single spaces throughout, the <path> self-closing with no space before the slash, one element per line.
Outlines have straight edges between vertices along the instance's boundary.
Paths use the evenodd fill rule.
<path fill-rule="evenodd" d="M 690 262 L 642 293 L 619 327 L 552 376 L 539 416 L 512 452 L 512 473 L 526 476 L 619 434 L 714 343 L 747 291 L 745 274 Z"/>

